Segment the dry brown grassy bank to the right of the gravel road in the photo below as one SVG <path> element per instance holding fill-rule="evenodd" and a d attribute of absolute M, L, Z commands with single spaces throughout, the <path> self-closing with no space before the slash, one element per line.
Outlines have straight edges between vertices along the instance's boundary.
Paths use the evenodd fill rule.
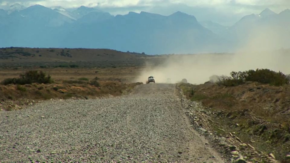
<path fill-rule="evenodd" d="M 290 148 L 290 86 L 247 82 L 236 87 L 180 84 L 193 101 L 202 101 L 215 114 L 217 128 L 236 132 L 244 141 L 283 160 Z M 218 133 L 221 133 L 217 129 Z"/>

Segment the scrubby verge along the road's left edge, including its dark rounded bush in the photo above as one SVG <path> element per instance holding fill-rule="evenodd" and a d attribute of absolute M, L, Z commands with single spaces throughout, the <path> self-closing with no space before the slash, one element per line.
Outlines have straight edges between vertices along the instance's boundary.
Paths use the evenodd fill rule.
<path fill-rule="evenodd" d="M 72 71 L 74 70 L 72 69 Z M 0 100 L 2 102 L 0 109 L 7 111 L 22 109 L 22 106 L 33 103 L 27 102 L 27 100 L 119 96 L 129 93 L 134 86 L 143 84 L 122 82 L 119 78 L 107 76 L 108 72 L 114 73 L 111 70 L 103 69 L 98 72 L 101 78 L 95 76 L 75 79 L 76 76 L 79 77 L 79 73 L 76 72 L 69 79 L 64 79 L 52 78 L 44 71 L 28 70 L 20 73 L 19 77 L 5 78 L 1 81 Z M 62 76 L 67 74 L 68 70 L 65 70 Z M 95 75 L 95 71 L 90 75 Z"/>

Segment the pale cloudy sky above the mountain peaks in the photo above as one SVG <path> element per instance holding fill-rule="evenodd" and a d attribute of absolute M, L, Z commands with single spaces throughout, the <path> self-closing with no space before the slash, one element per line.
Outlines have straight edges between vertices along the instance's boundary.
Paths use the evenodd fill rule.
<path fill-rule="evenodd" d="M 129 11 L 169 15 L 182 11 L 194 15 L 198 21 L 214 21 L 223 25 L 232 25 L 244 15 L 259 14 L 265 8 L 276 13 L 290 9 L 290 0 L 0 0 L 0 8 L 15 3 L 26 7 L 39 4 L 77 8 L 84 5 L 113 15 L 127 14 Z"/>

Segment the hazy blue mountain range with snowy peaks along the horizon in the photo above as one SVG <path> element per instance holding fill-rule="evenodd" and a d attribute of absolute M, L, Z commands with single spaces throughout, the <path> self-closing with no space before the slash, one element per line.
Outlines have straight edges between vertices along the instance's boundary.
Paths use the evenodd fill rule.
<path fill-rule="evenodd" d="M 0 47 L 106 48 L 146 54 L 218 53 L 290 48 L 290 10 L 269 8 L 225 27 L 177 11 L 111 15 L 97 8 L 61 6 L 0 9 Z"/>

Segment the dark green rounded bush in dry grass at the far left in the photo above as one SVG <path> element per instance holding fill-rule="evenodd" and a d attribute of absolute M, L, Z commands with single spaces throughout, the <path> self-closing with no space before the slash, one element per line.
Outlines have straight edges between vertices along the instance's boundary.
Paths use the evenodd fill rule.
<path fill-rule="evenodd" d="M 14 85 L 25 85 L 25 84 L 32 84 L 32 83 L 39 83 L 39 84 L 49 84 L 53 83 L 50 75 L 45 74 L 43 71 L 28 71 L 24 74 L 19 75 L 19 78 L 7 78 L 1 82 L 3 85 L 14 84 Z"/>

